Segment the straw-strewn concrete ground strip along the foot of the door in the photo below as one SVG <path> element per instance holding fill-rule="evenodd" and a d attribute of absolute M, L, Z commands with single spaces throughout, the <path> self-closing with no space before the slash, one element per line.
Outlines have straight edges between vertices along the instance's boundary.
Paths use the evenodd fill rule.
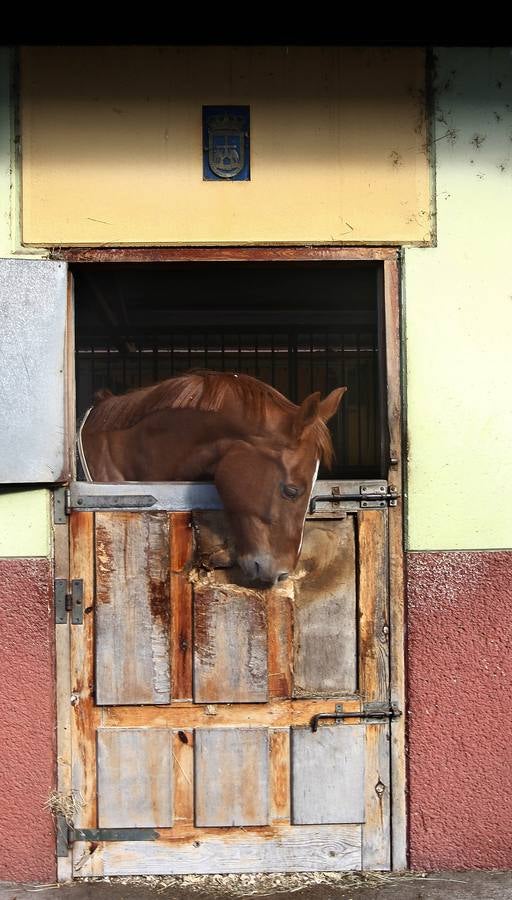
<path fill-rule="evenodd" d="M 327 875 L 321 883 L 300 884 L 302 876 L 210 876 L 188 879 L 111 879 L 70 885 L 0 884 L 0 900 L 212 900 L 264 897 L 266 900 L 512 900 L 512 871 L 429 872 L 426 875 Z M 315 880 L 318 876 L 313 876 Z M 308 876 L 304 880 L 308 881 Z M 206 883 L 205 883 L 206 882 Z M 255 883 L 256 882 L 256 883 Z"/>

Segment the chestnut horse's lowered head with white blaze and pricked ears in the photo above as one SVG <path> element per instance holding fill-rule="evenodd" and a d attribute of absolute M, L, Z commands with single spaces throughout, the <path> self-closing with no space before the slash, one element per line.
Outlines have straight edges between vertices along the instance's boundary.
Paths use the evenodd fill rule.
<path fill-rule="evenodd" d="M 274 431 L 233 442 L 218 463 L 215 484 L 249 579 L 269 586 L 295 569 L 321 458 L 332 454 L 326 422 L 345 391 L 322 401 L 311 394 Z"/>

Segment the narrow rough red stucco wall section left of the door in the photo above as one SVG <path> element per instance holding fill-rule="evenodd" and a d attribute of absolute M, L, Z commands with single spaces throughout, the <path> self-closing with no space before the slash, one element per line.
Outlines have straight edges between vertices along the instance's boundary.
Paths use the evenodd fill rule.
<path fill-rule="evenodd" d="M 0 880 L 54 881 L 51 565 L 0 559 Z"/>

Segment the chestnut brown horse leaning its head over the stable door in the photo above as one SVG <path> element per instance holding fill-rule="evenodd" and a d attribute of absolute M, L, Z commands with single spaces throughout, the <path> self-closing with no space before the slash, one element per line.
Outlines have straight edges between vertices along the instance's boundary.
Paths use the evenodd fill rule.
<path fill-rule="evenodd" d="M 297 564 L 320 460 L 333 457 L 326 422 L 345 391 L 296 406 L 248 375 L 200 372 L 103 392 L 83 424 L 83 452 L 94 481 L 212 479 L 240 567 L 274 584 Z"/>

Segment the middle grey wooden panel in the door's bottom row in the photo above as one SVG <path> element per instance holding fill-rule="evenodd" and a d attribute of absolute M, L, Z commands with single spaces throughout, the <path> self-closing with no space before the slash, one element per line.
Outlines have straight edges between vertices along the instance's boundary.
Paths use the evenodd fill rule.
<path fill-rule="evenodd" d="M 268 756 L 266 728 L 198 728 L 196 826 L 267 825 Z"/>

